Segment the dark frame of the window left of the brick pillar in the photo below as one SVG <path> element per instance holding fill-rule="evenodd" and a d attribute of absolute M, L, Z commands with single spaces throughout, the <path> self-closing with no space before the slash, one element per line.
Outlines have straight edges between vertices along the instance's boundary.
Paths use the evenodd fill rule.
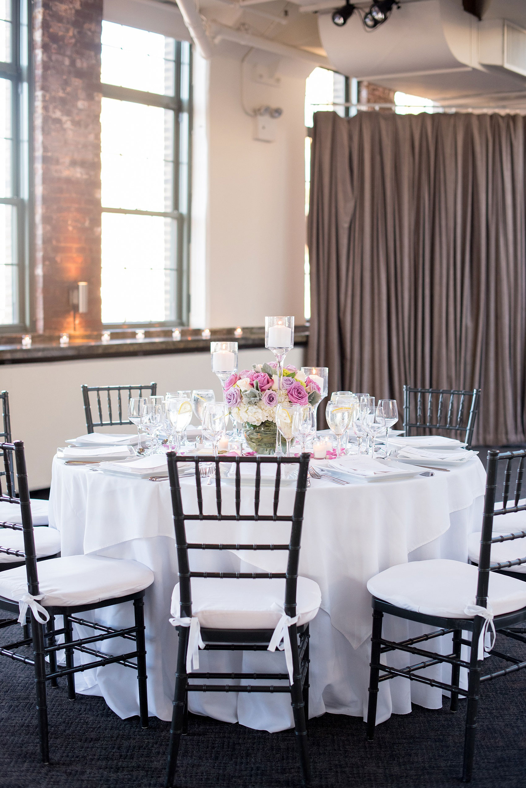
<path fill-rule="evenodd" d="M 24 30 L 22 17 L 27 25 Z M 20 333 L 31 328 L 31 311 L 29 299 L 31 288 L 29 284 L 29 254 L 32 251 L 29 220 L 32 216 L 32 20 L 31 0 L 12 0 L 11 2 L 11 61 L 0 61 L 0 79 L 11 82 L 11 196 L 0 197 L 0 205 L 12 205 L 16 209 L 16 232 L 13 240 L 17 244 L 17 322 L 0 323 L 0 334 Z M 27 35 L 27 40 L 22 42 L 22 35 Z M 24 51 L 28 62 L 22 61 Z M 23 86 L 27 85 L 24 91 Z M 27 100 L 26 106 L 23 106 Z M 23 118 L 27 117 L 28 144 L 27 154 L 24 155 L 22 147 Z M 27 161 L 26 161 L 27 158 Z M 23 173 L 26 173 L 24 182 Z"/>

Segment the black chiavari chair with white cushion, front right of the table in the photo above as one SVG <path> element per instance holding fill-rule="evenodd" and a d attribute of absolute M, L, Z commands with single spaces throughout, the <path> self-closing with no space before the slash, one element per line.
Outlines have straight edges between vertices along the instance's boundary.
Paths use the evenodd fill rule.
<path fill-rule="evenodd" d="M 367 738 L 372 741 L 376 724 L 376 701 L 379 682 L 402 676 L 411 681 L 449 691 L 450 709 L 456 712 L 458 696 L 467 697 L 464 765 L 462 781 L 472 778 L 473 758 L 480 685 L 495 678 L 509 675 L 526 667 L 526 660 L 517 660 L 491 648 L 491 654 L 508 663 L 509 667 L 483 674 L 484 637 L 488 626 L 514 641 L 526 644 L 526 588 L 516 577 L 508 577 L 502 571 L 526 564 L 526 558 L 492 561 L 491 549 L 495 545 L 524 539 L 526 530 L 517 533 L 494 535 L 494 518 L 526 511 L 526 503 L 520 503 L 524 458 L 526 451 L 487 452 L 487 485 L 484 500 L 483 526 L 480 537 L 478 567 L 461 561 L 435 559 L 415 561 L 391 567 L 369 580 L 367 587 L 372 593 L 372 655 L 369 680 L 369 711 L 367 716 Z M 509 474 L 504 481 L 503 504 L 495 506 L 498 463 L 518 460 L 517 480 L 513 505 L 509 501 Z M 446 608 L 449 608 L 447 610 Z M 401 619 L 417 621 L 439 627 L 432 633 L 394 642 L 382 637 L 383 614 L 388 613 Z M 463 637 L 471 632 L 471 640 Z M 453 634 L 453 652 L 443 655 L 419 649 L 418 644 L 443 634 Z M 461 647 L 469 647 L 469 661 L 461 659 Z M 404 668 L 394 668 L 380 663 L 381 656 L 394 651 L 417 655 L 423 661 Z M 449 663 L 451 683 L 437 681 L 421 675 L 424 668 Z M 461 667 L 468 670 L 468 689 L 460 685 Z M 387 723 L 386 723 L 387 724 Z"/>

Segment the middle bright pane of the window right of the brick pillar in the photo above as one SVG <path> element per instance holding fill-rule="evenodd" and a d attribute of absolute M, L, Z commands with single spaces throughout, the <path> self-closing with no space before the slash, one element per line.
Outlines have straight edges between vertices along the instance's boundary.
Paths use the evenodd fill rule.
<path fill-rule="evenodd" d="M 173 122 L 172 110 L 102 99 L 102 206 L 172 210 Z"/>

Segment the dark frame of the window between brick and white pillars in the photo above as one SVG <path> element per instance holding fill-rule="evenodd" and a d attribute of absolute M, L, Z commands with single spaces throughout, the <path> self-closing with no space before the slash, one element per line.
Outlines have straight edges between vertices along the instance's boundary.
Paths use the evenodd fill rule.
<path fill-rule="evenodd" d="M 121 24 L 121 23 L 118 23 Z M 189 75 L 188 75 L 188 99 L 181 99 L 181 48 L 183 43 L 175 39 L 175 91 L 173 96 L 138 91 L 132 87 L 120 87 L 101 82 L 101 92 L 103 99 L 116 99 L 117 101 L 133 102 L 145 104 L 146 106 L 157 106 L 164 110 L 172 110 L 173 119 L 173 180 L 172 180 L 172 206 L 171 211 L 150 211 L 128 208 L 107 208 L 101 206 L 102 214 L 135 214 L 136 216 L 158 216 L 173 219 L 176 222 L 176 259 L 175 263 L 175 292 L 172 294 L 174 299 L 175 318 L 158 322 L 127 322 L 127 323 L 102 323 L 105 329 L 154 329 L 184 327 L 189 323 L 190 318 L 190 230 L 191 230 L 191 151 L 192 151 L 192 87 L 193 87 L 193 48 L 189 46 Z M 188 146 L 187 151 L 187 211 L 186 214 L 180 213 L 180 116 L 187 113 L 188 117 Z M 102 261 L 101 261 L 102 268 Z"/>

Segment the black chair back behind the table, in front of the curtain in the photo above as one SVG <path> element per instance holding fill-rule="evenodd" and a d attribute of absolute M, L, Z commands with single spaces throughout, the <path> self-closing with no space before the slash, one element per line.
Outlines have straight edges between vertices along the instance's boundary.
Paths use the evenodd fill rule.
<path fill-rule="evenodd" d="M 404 435 L 409 437 L 412 429 L 419 432 L 438 430 L 461 437 L 470 448 L 479 399 L 480 388 L 457 391 L 448 388 L 411 388 L 405 385 Z"/>

